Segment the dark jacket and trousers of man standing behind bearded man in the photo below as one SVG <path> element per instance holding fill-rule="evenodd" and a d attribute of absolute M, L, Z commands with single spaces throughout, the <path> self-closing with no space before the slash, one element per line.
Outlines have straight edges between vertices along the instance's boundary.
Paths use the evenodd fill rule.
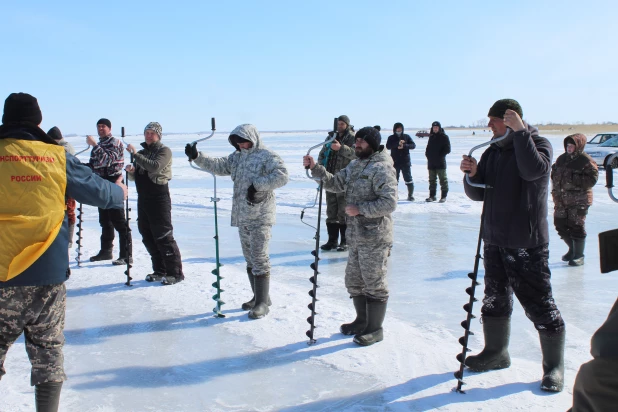
<path fill-rule="evenodd" d="M 330 136 L 327 138 L 329 139 Z M 338 137 L 337 140 L 341 143 L 341 149 L 338 151 L 331 150 L 330 144 L 324 146 L 318 155 L 317 163 L 324 166 L 329 173 L 335 174 L 341 169 L 345 169 L 347 165 L 354 159 L 354 143 L 356 138 L 354 133 L 348 128 L 343 137 Z M 343 193 L 326 192 L 326 223 L 338 223 L 345 225 L 345 195 Z"/>

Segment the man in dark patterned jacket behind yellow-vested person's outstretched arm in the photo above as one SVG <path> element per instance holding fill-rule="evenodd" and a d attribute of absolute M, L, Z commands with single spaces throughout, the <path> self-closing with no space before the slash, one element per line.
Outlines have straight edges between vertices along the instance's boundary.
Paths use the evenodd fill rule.
<path fill-rule="evenodd" d="M 124 167 L 124 153 L 122 142 L 112 136 L 112 123 L 108 119 L 97 122 L 99 141 L 94 137 L 86 136 L 86 143 L 92 146 L 90 152 L 90 168 L 100 177 L 110 182 L 122 179 Z M 101 225 L 101 250 L 90 257 L 91 262 L 111 260 L 114 258 L 114 230 L 118 232 L 120 256 L 114 260 L 114 265 L 127 264 L 127 251 L 131 256 L 133 242 L 131 232 L 127 228 L 127 221 L 123 209 L 99 208 L 99 224 Z M 131 262 L 133 263 L 133 258 Z"/>

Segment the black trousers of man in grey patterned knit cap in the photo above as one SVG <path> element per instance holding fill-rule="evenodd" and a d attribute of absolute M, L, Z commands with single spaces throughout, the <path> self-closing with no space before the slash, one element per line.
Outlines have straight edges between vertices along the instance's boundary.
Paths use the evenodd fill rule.
<path fill-rule="evenodd" d="M 184 279 L 182 258 L 174 239 L 172 201 L 169 193 L 138 197 L 137 228 L 150 254 L 155 273 Z"/>

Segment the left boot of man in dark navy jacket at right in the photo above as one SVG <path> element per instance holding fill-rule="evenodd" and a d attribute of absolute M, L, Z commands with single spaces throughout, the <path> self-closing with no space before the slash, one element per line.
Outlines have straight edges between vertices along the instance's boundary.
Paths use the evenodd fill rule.
<path fill-rule="evenodd" d="M 505 369 L 511 366 L 509 339 L 511 318 L 490 318 L 483 316 L 485 348 L 475 356 L 466 358 L 466 366 L 474 372 Z"/>

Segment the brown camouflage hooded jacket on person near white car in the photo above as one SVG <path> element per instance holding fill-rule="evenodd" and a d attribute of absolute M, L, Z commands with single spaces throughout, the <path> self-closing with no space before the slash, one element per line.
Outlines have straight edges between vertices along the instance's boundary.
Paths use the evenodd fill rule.
<path fill-rule="evenodd" d="M 575 142 L 575 152 L 561 154 L 551 167 L 551 194 L 556 208 L 592 205 L 592 188 L 599 178 L 597 164 L 583 152 L 586 136 L 575 134 L 565 138 L 565 150 L 570 139 Z"/>

